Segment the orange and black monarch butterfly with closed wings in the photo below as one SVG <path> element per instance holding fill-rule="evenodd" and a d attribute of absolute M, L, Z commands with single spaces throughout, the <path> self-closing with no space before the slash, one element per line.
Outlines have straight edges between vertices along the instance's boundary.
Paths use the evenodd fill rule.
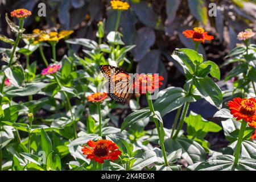
<path fill-rule="evenodd" d="M 133 78 L 122 69 L 101 65 L 100 71 L 109 81 L 109 97 L 117 102 L 125 102 L 133 90 Z"/>

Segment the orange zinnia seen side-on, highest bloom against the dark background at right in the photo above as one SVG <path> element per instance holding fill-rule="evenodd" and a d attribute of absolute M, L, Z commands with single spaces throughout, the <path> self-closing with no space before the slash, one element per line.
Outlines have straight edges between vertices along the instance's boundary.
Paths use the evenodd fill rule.
<path fill-rule="evenodd" d="M 204 28 L 196 27 L 194 30 L 186 30 L 183 31 L 182 34 L 185 35 L 186 38 L 193 39 L 195 42 L 205 42 L 205 40 L 213 40 L 214 37 L 212 35 L 208 35 L 208 32 L 204 31 Z"/>

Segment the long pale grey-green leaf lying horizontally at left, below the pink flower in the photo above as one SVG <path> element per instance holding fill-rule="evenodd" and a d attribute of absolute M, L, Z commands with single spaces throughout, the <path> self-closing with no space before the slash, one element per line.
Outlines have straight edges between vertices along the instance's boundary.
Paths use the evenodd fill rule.
<path fill-rule="evenodd" d="M 23 96 L 32 96 L 40 92 L 48 84 L 44 82 L 35 82 L 31 84 L 26 84 L 25 88 L 11 88 L 5 93 L 8 97 L 23 97 Z"/>

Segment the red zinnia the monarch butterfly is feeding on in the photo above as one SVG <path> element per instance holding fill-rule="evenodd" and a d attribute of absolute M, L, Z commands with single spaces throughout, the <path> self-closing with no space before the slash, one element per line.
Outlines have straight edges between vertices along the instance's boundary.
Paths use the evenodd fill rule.
<path fill-rule="evenodd" d="M 155 89 L 160 88 L 163 85 L 162 81 L 164 78 L 162 76 L 154 75 L 146 75 L 142 73 L 141 75 L 137 75 L 134 81 L 134 89 L 135 93 L 146 94 L 147 92 L 154 92 Z"/>

